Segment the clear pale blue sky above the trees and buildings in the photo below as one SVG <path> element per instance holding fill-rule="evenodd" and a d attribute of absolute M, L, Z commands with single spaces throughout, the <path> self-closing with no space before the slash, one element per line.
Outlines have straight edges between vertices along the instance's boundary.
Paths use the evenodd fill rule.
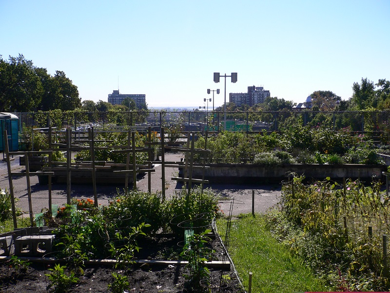
<path fill-rule="evenodd" d="M 82 100 L 118 88 L 149 107 L 203 105 L 213 72 L 229 92 L 264 86 L 303 102 L 348 99 L 352 84 L 390 79 L 389 0 L 0 0 L 0 54 L 23 54 L 78 86 Z M 210 107 L 211 104 L 209 104 Z"/>

